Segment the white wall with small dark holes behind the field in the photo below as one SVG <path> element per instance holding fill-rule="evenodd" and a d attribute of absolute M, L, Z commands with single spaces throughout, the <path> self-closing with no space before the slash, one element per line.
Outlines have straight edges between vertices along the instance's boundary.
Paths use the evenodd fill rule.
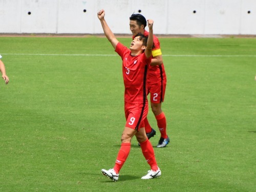
<path fill-rule="evenodd" d="M 0 0 L 0 33 L 103 33 L 102 8 L 116 34 L 141 13 L 155 34 L 256 35 L 256 0 Z"/>

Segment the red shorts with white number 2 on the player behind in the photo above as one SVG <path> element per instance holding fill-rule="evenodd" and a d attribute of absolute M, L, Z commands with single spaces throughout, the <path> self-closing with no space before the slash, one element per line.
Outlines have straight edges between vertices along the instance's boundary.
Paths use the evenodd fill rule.
<path fill-rule="evenodd" d="M 164 100 L 166 88 L 166 79 L 163 81 L 156 81 L 156 82 L 148 82 L 147 81 L 147 89 L 150 93 L 150 102 L 151 103 L 161 103 Z"/>

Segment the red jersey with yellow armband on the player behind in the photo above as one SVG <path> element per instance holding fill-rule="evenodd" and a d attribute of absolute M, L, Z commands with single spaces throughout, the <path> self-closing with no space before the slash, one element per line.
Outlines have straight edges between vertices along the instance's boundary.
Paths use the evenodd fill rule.
<path fill-rule="evenodd" d="M 144 31 L 143 35 L 148 36 L 148 31 Z M 134 36 L 133 36 L 134 38 Z M 161 49 L 160 49 L 160 42 L 158 38 L 153 35 L 153 41 L 154 41 L 154 48 L 152 49 L 152 58 L 158 55 L 162 55 Z M 148 82 L 155 82 L 155 81 L 162 81 L 163 79 L 166 79 L 166 74 L 164 70 L 164 65 L 162 63 L 161 66 L 149 66 L 148 72 L 147 72 L 147 81 Z"/>

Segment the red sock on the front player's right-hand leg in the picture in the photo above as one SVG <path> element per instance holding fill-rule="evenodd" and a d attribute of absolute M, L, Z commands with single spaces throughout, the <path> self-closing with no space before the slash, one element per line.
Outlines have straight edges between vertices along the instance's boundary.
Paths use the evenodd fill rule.
<path fill-rule="evenodd" d="M 154 171 L 158 170 L 155 153 L 150 140 L 147 139 L 146 141 L 140 143 L 140 146 L 141 146 L 142 153 L 147 163 L 150 165 L 151 169 Z"/>

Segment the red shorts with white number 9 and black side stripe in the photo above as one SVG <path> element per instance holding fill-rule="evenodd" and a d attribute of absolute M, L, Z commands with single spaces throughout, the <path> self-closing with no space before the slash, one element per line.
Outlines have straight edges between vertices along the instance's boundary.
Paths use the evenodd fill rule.
<path fill-rule="evenodd" d="M 139 130 L 144 125 L 144 119 L 147 116 L 148 103 L 127 103 L 124 102 L 124 114 L 126 118 L 126 127 Z"/>

